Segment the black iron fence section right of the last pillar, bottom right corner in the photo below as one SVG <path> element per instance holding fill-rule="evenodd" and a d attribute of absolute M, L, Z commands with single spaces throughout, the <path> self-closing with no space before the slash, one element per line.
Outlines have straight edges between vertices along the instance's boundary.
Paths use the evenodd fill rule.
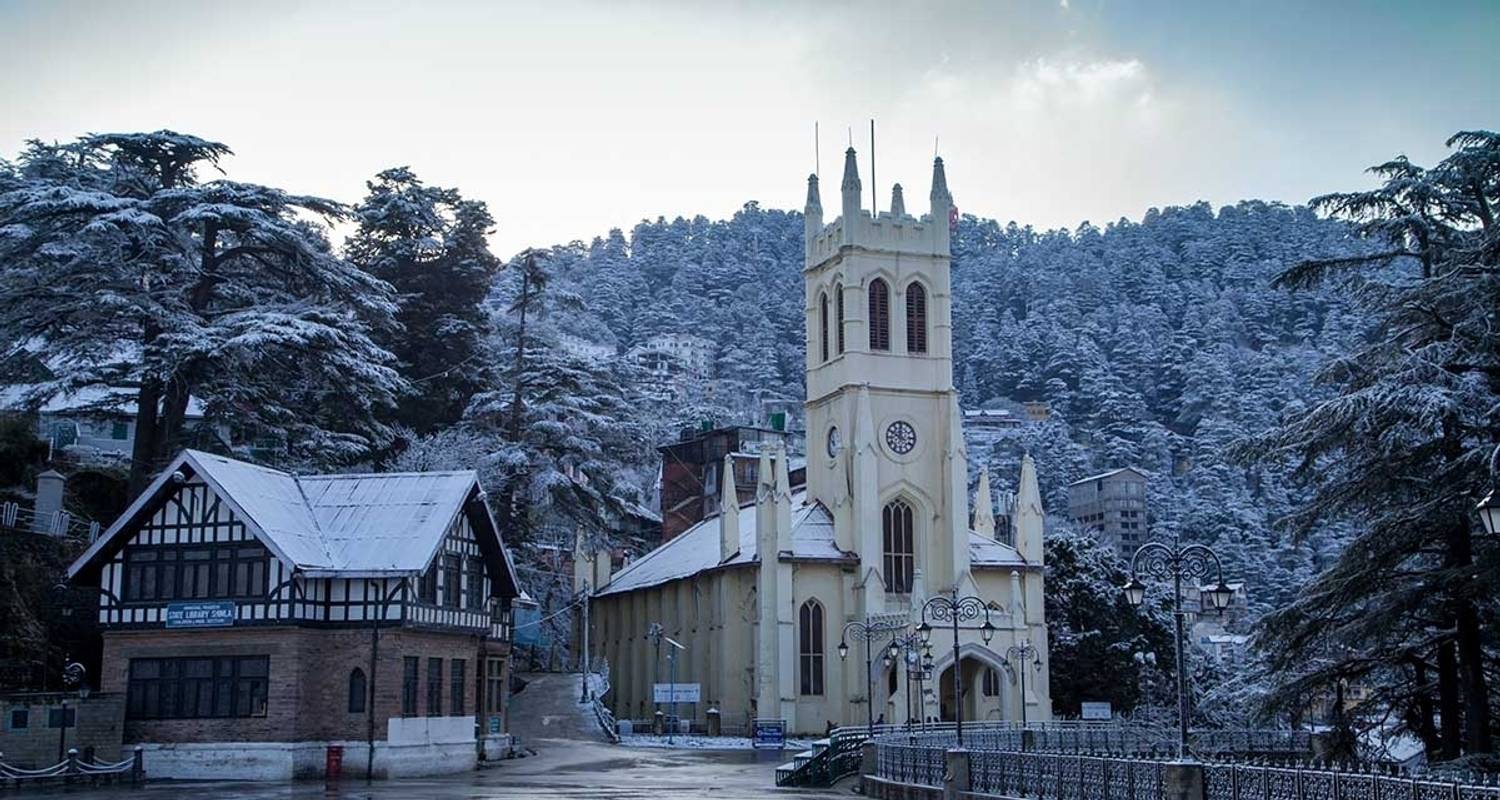
<path fill-rule="evenodd" d="M 1209 762 L 1204 800 L 1500 800 L 1500 783 L 1338 767 Z"/>

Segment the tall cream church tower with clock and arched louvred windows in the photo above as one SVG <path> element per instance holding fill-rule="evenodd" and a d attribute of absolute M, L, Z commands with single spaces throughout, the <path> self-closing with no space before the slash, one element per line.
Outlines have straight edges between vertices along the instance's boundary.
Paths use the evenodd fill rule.
<path fill-rule="evenodd" d="M 908 215 L 897 185 L 891 210 L 872 215 L 852 147 L 838 189 L 842 215 L 825 225 L 818 177 L 807 182 L 807 488 L 832 513 L 838 546 L 860 555 L 864 612 L 902 612 L 972 584 L 952 197 L 936 159 L 928 213 Z"/>

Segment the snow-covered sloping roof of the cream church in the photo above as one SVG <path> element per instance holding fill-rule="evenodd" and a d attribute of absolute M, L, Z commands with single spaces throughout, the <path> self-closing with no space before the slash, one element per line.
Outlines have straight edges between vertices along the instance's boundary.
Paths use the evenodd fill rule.
<path fill-rule="evenodd" d="M 670 542 L 652 549 L 620 570 L 600 596 L 620 594 L 662 585 L 698 575 L 714 567 L 754 563 L 758 558 L 754 503 L 740 510 L 740 552 L 728 561 L 718 558 L 718 515 L 687 528 Z M 858 561 L 858 555 L 838 549 L 834 540 L 834 518 L 822 503 L 808 501 L 807 491 L 792 492 L 792 552 L 800 560 Z M 969 558 L 975 567 L 1026 566 L 1016 548 L 969 531 Z"/>

